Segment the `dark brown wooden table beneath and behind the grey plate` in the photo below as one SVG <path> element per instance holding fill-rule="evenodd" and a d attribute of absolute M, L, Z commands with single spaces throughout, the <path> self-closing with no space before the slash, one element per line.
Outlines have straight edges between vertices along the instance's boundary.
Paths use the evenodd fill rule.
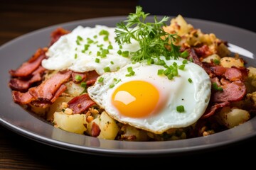
<path fill-rule="evenodd" d="M 72 2 L 72 3 L 71 3 Z M 0 45 L 39 28 L 57 23 L 76 21 L 102 16 L 127 16 L 134 12 L 138 1 L 0 1 Z M 2 61 L 3 62 L 3 61 Z M 183 161 L 191 162 L 191 166 L 206 163 L 240 164 L 250 166 L 250 158 L 255 157 L 256 138 L 245 140 L 228 147 L 218 148 L 201 153 L 177 157 L 126 158 L 103 157 L 59 149 L 39 142 L 4 128 L 0 125 L 0 169 L 63 169 L 76 166 L 87 169 L 88 166 L 117 168 L 170 166 Z M 102 160 L 110 160 L 102 164 Z M 111 159 L 108 159 L 111 158 Z M 227 160 L 231 159 L 231 162 Z M 122 166 L 117 166 L 117 163 Z M 178 163 L 181 167 L 184 164 Z M 206 167 L 206 169 L 208 169 Z"/>

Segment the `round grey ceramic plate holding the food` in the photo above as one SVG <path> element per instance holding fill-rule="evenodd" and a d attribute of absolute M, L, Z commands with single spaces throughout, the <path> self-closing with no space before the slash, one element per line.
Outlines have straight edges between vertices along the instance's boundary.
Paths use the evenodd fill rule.
<path fill-rule="evenodd" d="M 161 16 L 159 16 L 161 18 Z M 39 47 L 46 47 L 50 42 L 50 33 L 55 28 L 63 27 L 73 30 L 78 25 L 94 27 L 96 24 L 115 26 L 119 21 L 125 20 L 124 16 L 94 18 L 82 21 L 63 23 L 57 26 L 50 26 L 36 30 L 0 47 L 1 57 L 1 81 L 0 81 L 0 123 L 10 130 L 42 142 L 46 145 L 68 149 L 75 152 L 87 154 L 112 155 L 112 156 L 151 156 L 171 155 L 189 152 L 198 152 L 204 149 L 214 149 L 241 142 L 256 135 L 256 118 L 236 128 L 219 132 L 207 137 L 197 137 L 188 140 L 169 142 L 122 142 L 112 140 L 100 140 L 95 137 L 77 135 L 65 132 L 35 115 L 24 111 L 13 102 L 11 90 L 9 89 L 9 69 L 16 69 L 21 63 L 28 60 Z M 151 17 L 152 19 L 152 17 Z M 202 21 L 193 18 L 186 18 L 195 28 L 201 28 L 204 33 L 215 33 L 218 38 L 228 40 L 230 50 L 240 52 L 246 57 L 249 65 L 256 66 L 256 33 L 241 28 L 235 28 L 222 23 Z"/>

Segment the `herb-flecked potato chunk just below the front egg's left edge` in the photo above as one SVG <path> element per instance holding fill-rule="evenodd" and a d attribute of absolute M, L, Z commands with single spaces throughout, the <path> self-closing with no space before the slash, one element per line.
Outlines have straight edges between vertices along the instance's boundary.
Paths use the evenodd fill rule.
<path fill-rule="evenodd" d="M 115 123 L 115 120 L 107 115 L 105 111 L 89 123 L 88 133 L 90 135 L 92 135 L 92 123 L 96 123 L 100 128 L 100 135 L 97 137 L 105 140 L 114 140 L 117 136 L 119 127 L 117 126 L 117 123 Z"/>

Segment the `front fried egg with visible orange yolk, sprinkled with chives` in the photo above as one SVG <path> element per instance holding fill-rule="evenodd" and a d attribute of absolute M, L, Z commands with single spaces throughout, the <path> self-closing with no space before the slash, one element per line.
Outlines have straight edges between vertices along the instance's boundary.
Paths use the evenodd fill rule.
<path fill-rule="evenodd" d="M 167 65 L 182 65 L 168 60 Z M 130 74 L 132 72 L 134 74 Z M 116 72 L 98 77 L 87 92 L 115 120 L 135 128 L 161 134 L 184 128 L 203 115 L 210 100 L 210 78 L 205 70 L 188 62 L 178 75 L 159 75 L 163 66 L 143 62 L 127 64 Z M 183 107 L 180 111 L 177 107 Z"/>

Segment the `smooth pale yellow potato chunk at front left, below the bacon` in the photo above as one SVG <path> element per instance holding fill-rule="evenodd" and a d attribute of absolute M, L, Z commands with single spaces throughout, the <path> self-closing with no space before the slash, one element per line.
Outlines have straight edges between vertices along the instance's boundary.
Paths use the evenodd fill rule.
<path fill-rule="evenodd" d="M 68 115 L 63 112 L 53 114 L 53 123 L 57 128 L 78 134 L 83 134 L 88 124 L 85 114 Z"/>

